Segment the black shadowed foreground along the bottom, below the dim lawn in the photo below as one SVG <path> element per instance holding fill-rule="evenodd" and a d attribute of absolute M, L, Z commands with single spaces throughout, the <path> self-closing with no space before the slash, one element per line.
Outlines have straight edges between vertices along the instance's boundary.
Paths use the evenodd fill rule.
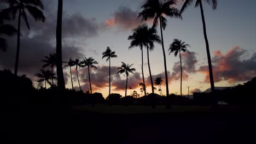
<path fill-rule="evenodd" d="M 1 143 L 256 143 L 252 107 L 101 114 L 38 106 L 10 108 L 3 116 Z"/>

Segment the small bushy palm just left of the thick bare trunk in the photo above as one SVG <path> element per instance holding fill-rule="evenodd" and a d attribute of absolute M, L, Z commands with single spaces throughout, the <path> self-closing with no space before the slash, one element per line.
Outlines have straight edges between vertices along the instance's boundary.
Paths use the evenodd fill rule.
<path fill-rule="evenodd" d="M 53 73 L 51 73 L 50 70 L 40 70 L 41 73 L 36 74 L 37 77 L 40 78 L 40 80 L 38 80 L 38 82 L 43 82 L 45 81 L 45 88 L 46 88 L 46 82 L 49 83 L 49 85 L 53 86 L 53 84 L 49 81 L 50 79 L 57 79 L 57 77 L 55 77 Z"/>

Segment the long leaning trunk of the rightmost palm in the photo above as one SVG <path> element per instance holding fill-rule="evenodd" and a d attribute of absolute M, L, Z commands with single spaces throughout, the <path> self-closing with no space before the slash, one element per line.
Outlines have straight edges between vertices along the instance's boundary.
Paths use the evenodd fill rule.
<path fill-rule="evenodd" d="M 211 53 L 208 43 L 208 38 L 206 34 L 206 25 L 205 25 L 205 15 L 203 14 L 203 7 L 202 2 L 199 1 L 200 4 L 200 10 L 201 10 L 201 16 L 202 16 L 202 23 L 203 23 L 203 35 L 205 37 L 205 44 L 206 44 L 206 52 L 207 52 L 207 59 L 208 59 L 208 67 L 209 67 L 209 74 L 210 74 L 210 83 L 211 83 L 211 90 L 212 90 L 212 105 L 217 105 L 217 99 L 215 95 L 215 87 L 214 87 L 214 80 L 213 80 L 213 73 L 212 73 L 212 62 L 211 62 Z"/>

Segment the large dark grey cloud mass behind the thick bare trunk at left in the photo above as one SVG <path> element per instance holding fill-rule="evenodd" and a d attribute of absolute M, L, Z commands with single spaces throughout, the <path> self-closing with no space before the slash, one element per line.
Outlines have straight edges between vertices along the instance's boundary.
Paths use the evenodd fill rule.
<path fill-rule="evenodd" d="M 19 58 L 19 75 L 26 74 L 32 80 L 36 79 L 34 74 L 42 68 L 42 59 L 49 53 L 56 51 L 56 16 L 57 5 L 53 1 L 44 1 L 45 17 L 44 23 L 35 22 L 28 16 L 31 31 L 28 31 L 25 22 L 21 21 L 21 41 Z M 56 7 L 56 8 L 55 8 Z M 17 18 L 17 17 L 16 17 Z M 14 26 L 17 20 L 11 21 Z M 62 20 L 62 57 L 68 61 L 69 57 L 76 58 L 83 56 L 82 44 L 86 39 L 95 37 L 100 31 L 100 25 L 96 19 L 88 19 L 81 14 L 66 15 L 63 13 Z M 83 41 L 75 39 L 83 38 Z M 0 53 L 0 68 L 14 69 L 16 53 L 16 36 L 7 38 L 8 50 Z M 68 74 L 65 73 L 65 80 Z"/>

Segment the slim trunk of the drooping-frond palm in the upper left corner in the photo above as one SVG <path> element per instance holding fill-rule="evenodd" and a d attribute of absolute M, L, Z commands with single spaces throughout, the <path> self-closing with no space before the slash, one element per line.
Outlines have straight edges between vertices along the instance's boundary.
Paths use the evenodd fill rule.
<path fill-rule="evenodd" d="M 20 19 L 21 19 L 21 9 L 19 9 L 19 20 L 18 20 L 18 36 L 17 36 L 17 50 L 16 50 L 16 59 L 15 59 L 15 68 L 14 75 L 18 75 L 18 65 L 19 65 L 19 56 L 20 56 Z"/>

